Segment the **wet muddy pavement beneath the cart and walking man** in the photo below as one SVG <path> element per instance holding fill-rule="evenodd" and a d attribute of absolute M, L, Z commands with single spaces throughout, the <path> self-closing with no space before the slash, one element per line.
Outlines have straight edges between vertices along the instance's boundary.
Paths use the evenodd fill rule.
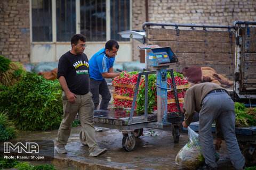
<path fill-rule="evenodd" d="M 172 132 L 157 129 L 144 129 L 143 136 L 136 139 L 135 150 L 126 152 L 122 147 L 123 135 L 118 130 L 102 128 L 97 132 L 97 140 L 101 148 L 107 148 L 106 154 L 91 158 L 88 147 L 79 141 L 80 128 L 73 128 L 66 149 L 68 154 L 54 152 L 54 160 L 50 162 L 57 169 L 183 169 L 175 164 L 178 151 L 188 142 L 188 135 L 182 133 L 179 143 L 173 142 Z M 15 140 L 53 140 L 57 130 L 46 132 L 20 132 Z M 152 136 L 151 136 L 152 134 Z M 220 149 L 218 169 L 235 169 L 227 155 L 225 142 Z M 40 164 L 38 162 L 37 164 Z M 41 163 L 42 164 L 42 163 Z"/>

